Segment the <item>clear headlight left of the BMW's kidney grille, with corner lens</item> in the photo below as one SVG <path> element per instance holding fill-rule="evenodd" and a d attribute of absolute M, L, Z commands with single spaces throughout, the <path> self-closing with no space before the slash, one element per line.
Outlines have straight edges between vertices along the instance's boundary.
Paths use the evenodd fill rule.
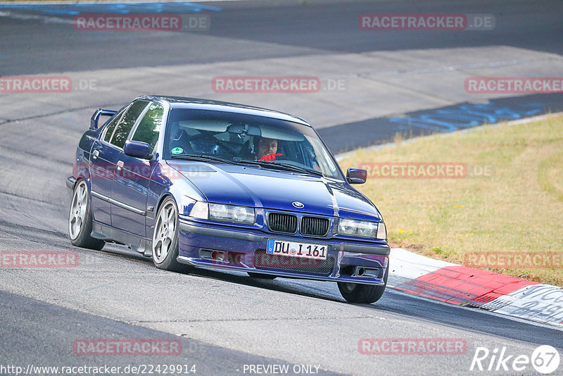
<path fill-rule="evenodd" d="M 256 221 L 254 208 L 203 201 L 196 202 L 189 215 L 194 218 L 246 223 L 248 225 L 253 225 Z"/>

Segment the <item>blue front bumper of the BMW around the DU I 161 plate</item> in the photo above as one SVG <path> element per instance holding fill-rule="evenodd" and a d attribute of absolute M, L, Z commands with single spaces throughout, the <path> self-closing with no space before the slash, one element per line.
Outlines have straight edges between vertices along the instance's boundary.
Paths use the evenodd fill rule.
<path fill-rule="evenodd" d="M 326 244 L 327 260 L 269 255 L 268 239 Z M 221 228 L 179 219 L 177 261 L 205 268 L 257 272 L 280 277 L 383 285 L 390 248 L 335 239 L 264 234 L 256 230 Z"/>

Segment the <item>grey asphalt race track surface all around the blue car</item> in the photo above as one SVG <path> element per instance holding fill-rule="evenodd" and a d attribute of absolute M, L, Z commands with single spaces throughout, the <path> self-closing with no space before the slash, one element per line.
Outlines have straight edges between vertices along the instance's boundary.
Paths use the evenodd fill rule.
<path fill-rule="evenodd" d="M 557 94 L 472 97 L 462 90 L 467 75 L 560 76 L 560 1 L 208 5 L 221 8 L 199 12 L 210 15 L 208 32 L 176 33 L 77 32 L 68 23 L 72 15 L 0 9 L 1 75 L 62 73 L 73 82 L 96 83 L 65 94 L 0 93 L 0 252 L 76 251 L 79 257 L 75 268 L 0 268 L 0 365 L 173 363 L 195 364 L 198 375 L 245 375 L 244 365 L 290 364 L 318 366 L 324 375 L 457 375 L 475 373 L 469 368 L 479 346 L 491 351 L 506 346 L 507 354 L 527 356 L 539 344 L 563 349 L 562 332 L 555 328 L 392 287 L 377 303 L 354 305 L 343 301 L 334 284 L 258 281 L 212 270 L 163 272 L 121 246 L 73 248 L 65 236 L 64 179 L 98 106 L 118 108 L 147 92 L 258 104 L 312 120 L 326 132 L 323 137 L 343 140 L 334 150 L 365 142 L 362 133 L 371 134 L 372 143 L 391 138 L 396 130 L 386 129 L 388 122 L 377 120 L 369 128 L 374 119 L 415 118 L 417 111 L 489 99 L 512 111 L 539 102 L 543 112 L 560 106 Z M 458 33 L 358 30 L 358 14 L 406 12 L 490 13 L 497 26 Z M 348 86 L 314 96 L 210 89 L 210 77 L 229 74 L 346 77 Z M 96 338 L 177 338 L 183 351 L 136 357 L 72 351 L 74 341 Z M 358 351 L 364 338 L 463 339 L 467 351 L 364 355 Z M 531 367 L 520 373 L 536 374 Z"/>

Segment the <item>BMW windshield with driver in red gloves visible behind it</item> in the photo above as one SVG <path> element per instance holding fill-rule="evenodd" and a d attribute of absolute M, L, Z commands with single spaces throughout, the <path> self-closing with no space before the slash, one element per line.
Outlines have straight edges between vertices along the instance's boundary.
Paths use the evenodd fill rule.
<path fill-rule="evenodd" d="M 311 127 L 286 120 L 223 111 L 172 108 L 164 158 L 257 165 L 343 179 L 334 157 Z"/>

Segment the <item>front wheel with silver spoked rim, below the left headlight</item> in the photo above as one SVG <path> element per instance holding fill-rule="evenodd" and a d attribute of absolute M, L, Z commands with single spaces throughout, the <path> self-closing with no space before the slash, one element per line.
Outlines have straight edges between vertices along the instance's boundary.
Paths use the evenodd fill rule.
<path fill-rule="evenodd" d="M 178 257 L 178 207 L 176 201 L 171 197 L 165 199 L 156 212 L 152 249 L 153 263 L 157 268 L 172 272 L 182 272 L 187 269 L 186 265 L 176 260 Z"/>

